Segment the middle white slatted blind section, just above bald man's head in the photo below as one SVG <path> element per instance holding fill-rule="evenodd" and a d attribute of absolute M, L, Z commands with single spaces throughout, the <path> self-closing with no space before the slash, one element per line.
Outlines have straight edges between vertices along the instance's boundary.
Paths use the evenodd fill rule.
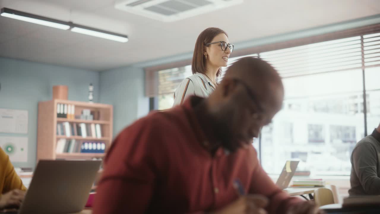
<path fill-rule="evenodd" d="M 328 42 L 260 53 L 282 77 L 331 72 L 361 67 L 361 38 Z"/>

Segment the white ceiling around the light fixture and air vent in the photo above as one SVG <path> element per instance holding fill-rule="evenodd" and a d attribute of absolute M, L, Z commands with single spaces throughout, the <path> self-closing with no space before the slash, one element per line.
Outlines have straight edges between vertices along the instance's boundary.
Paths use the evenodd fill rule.
<path fill-rule="evenodd" d="M 114 0 L 0 0 L 1 8 L 129 37 L 129 42 L 119 43 L 0 16 L 0 56 L 102 71 L 191 53 L 198 34 L 207 27 L 222 28 L 231 43 L 238 43 L 380 14 L 380 0 L 244 0 L 228 9 L 160 22 L 117 10 L 114 4 Z"/>

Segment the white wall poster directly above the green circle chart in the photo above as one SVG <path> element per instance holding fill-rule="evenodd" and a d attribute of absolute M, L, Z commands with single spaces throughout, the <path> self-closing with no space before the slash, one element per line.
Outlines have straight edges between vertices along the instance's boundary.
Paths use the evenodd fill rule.
<path fill-rule="evenodd" d="M 28 133 L 28 111 L 0 109 L 0 133 Z"/>

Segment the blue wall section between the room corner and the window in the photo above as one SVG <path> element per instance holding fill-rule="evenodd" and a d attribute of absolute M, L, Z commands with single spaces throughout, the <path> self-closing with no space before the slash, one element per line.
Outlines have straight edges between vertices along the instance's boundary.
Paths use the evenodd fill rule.
<path fill-rule="evenodd" d="M 114 107 L 113 135 L 149 112 L 149 98 L 144 94 L 144 70 L 123 67 L 100 73 L 100 102 Z"/>

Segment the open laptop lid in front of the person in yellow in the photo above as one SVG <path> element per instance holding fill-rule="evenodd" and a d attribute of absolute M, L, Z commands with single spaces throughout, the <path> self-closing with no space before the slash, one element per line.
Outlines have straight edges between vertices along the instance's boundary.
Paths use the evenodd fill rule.
<path fill-rule="evenodd" d="M 101 161 L 40 160 L 17 214 L 80 212 Z"/>

